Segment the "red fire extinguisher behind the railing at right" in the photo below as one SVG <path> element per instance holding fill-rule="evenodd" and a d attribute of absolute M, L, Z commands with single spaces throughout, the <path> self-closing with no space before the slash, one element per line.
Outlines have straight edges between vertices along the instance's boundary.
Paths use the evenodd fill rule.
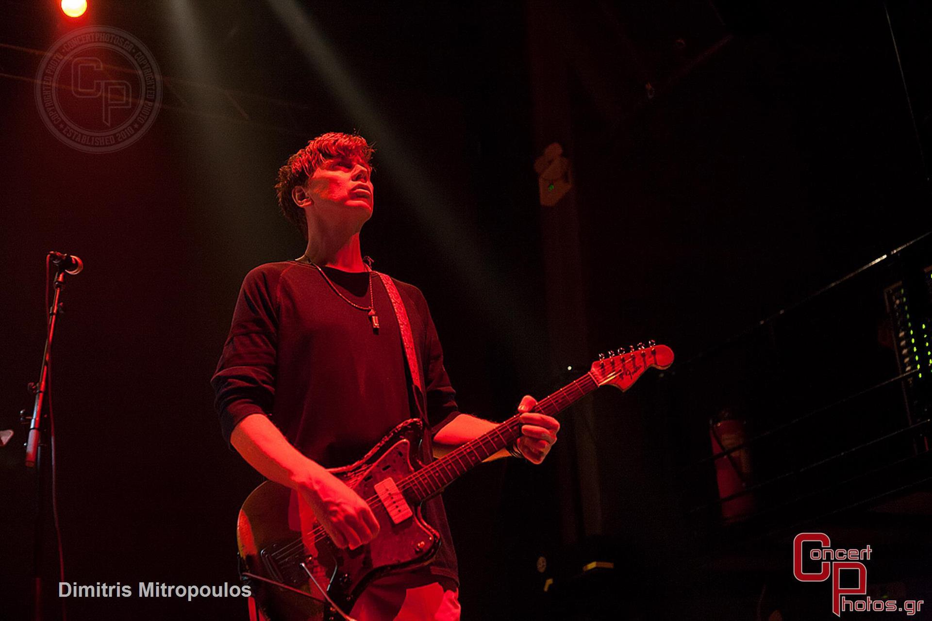
<path fill-rule="evenodd" d="M 743 444 L 747 439 L 745 422 L 734 416 L 730 409 L 708 422 L 709 437 L 712 440 L 712 452 L 717 454 Z M 721 517 L 725 521 L 746 518 L 754 509 L 754 497 L 743 493 L 750 487 L 751 464 L 747 447 L 722 455 L 715 460 L 715 475 L 719 483 Z M 735 493 L 741 495 L 729 498 Z"/>

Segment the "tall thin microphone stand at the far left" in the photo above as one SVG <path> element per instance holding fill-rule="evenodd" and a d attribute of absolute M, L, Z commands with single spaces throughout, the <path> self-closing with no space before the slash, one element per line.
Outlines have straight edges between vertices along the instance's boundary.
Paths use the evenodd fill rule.
<path fill-rule="evenodd" d="M 55 336 L 55 322 L 61 310 L 62 289 L 64 289 L 65 266 L 58 266 L 58 273 L 55 275 L 55 296 L 52 305 L 48 309 L 48 335 L 46 336 L 46 348 L 42 355 L 42 368 L 39 371 L 39 381 L 31 385 L 35 392 L 35 403 L 33 407 L 33 416 L 29 422 L 29 432 L 26 439 L 26 467 L 33 468 L 35 471 L 35 517 L 34 517 L 34 546 L 33 546 L 33 575 L 34 575 L 34 619 L 42 619 L 42 572 L 40 571 L 42 560 L 42 536 L 43 536 L 43 516 L 45 504 L 43 496 L 45 495 L 45 451 L 40 450 L 42 445 L 42 405 L 46 395 L 48 385 L 48 368 L 51 362 L 52 338 Z"/>

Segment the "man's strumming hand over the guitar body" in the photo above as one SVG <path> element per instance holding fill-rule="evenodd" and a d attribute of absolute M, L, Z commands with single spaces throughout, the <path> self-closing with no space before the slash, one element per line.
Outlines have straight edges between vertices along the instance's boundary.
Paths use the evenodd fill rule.
<path fill-rule="evenodd" d="M 353 549 L 375 539 L 378 520 L 363 498 L 326 469 L 315 470 L 313 475 L 296 480 L 293 487 L 336 547 Z"/>

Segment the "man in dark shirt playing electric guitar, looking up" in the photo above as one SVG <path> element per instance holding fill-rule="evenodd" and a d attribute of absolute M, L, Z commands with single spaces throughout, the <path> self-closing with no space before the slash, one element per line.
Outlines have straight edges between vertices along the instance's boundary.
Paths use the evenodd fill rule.
<path fill-rule="evenodd" d="M 327 133 L 281 167 L 279 205 L 308 239 L 307 249 L 295 261 L 266 263 L 246 276 L 212 379 L 230 444 L 267 479 L 293 490 L 333 545 L 349 550 L 373 541 L 379 522 L 327 468 L 360 459 L 393 426 L 419 416 L 390 291 L 360 250 L 360 230 L 374 205 L 372 152 L 360 136 Z M 393 282 L 423 378 L 426 463 L 496 424 L 459 412 L 423 295 Z M 530 396 L 521 400 L 522 435 L 511 451 L 489 459 L 511 453 L 541 463 L 559 424 L 533 412 L 535 405 Z M 423 510 L 440 533 L 438 553 L 426 567 L 370 583 L 352 617 L 459 619 L 457 561 L 440 496 Z"/>

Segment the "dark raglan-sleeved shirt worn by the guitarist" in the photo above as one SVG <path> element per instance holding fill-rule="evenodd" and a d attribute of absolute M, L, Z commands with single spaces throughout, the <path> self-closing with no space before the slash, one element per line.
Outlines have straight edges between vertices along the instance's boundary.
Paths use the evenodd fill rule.
<path fill-rule="evenodd" d="M 213 375 L 224 438 L 243 418 L 270 416 L 295 448 L 322 466 L 346 466 L 371 449 L 412 409 L 401 332 L 381 280 L 324 267 L 349 301 L 317 268 L 287 261 L 259 265 L 243 280 L 229 336 Z M 417 287 L 394 281 L 411 322 L 427 392 L 429 437 L 459 415 L 427 302 Z M 422 459 L 431 459 L 427 442 Z M 443 501 L 424 504 L 424 518 L 443 543 L 430 570 L 459 581 Z"/>

